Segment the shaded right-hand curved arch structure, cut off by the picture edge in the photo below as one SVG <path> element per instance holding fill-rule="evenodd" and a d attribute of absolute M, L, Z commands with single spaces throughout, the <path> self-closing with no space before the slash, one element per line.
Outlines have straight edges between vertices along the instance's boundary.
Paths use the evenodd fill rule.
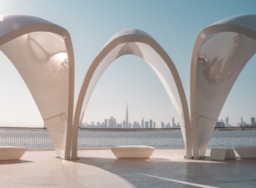
<path fill-rule="evenodd" d="M 194 158 L 204 156 L 226 97 L 255 52 L 255 15 L 222 19 L 198 34 L 190 72 Z"/>

